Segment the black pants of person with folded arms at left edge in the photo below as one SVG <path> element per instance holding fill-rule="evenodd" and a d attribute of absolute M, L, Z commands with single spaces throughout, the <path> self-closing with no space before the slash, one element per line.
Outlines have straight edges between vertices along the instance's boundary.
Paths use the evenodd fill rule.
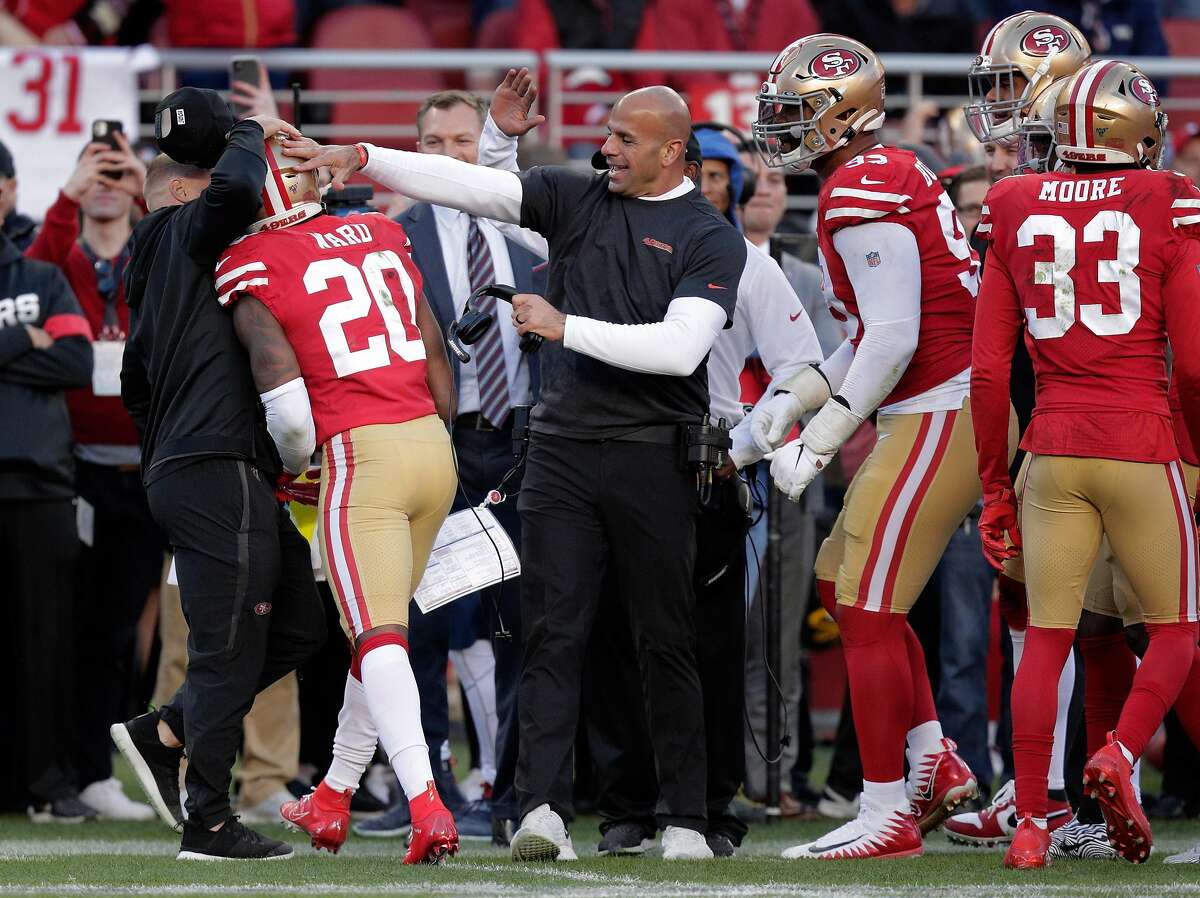
<path fill-rule="evenodd" d="M 16 426 L 16 425 L 14 425 Z M 79 538 L 68 498 L 0 501 L 0 804 L 74 795 L 72 598 Z M 66 738 L 65 738 L 66 737 Z"/>

